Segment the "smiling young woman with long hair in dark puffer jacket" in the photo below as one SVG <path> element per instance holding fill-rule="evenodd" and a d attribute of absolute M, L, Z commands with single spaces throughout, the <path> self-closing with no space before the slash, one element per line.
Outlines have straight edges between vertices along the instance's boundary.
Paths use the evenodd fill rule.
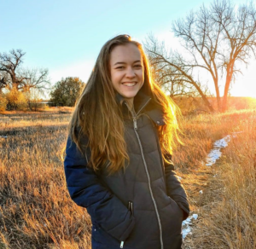
<path fill-rule="evenodd" d="M 189 203 L 172 165 L 172 101 L 140 43 L 109 40 L 75 107 L 64 161 L 73 201 L 91 217 L 93 249 L 177 249 Z"/>

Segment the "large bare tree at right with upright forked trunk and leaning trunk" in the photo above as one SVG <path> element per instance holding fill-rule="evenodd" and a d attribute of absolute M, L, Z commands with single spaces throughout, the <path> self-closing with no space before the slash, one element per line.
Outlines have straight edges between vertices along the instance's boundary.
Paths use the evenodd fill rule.
<path fill-rule="evenodd" d="M 198 11 L 191 11 L 185 18 L 175 21 L 172 31 L 180 38 L 185 55 L 176 52 L 166 57 L 157 53 L 157 49 L 148 49 L 149 53 L 160 63 L 165 61 L 166 65 L 176 68 L 199 92 L 201 89 L 195 80 L 195 72 L 208 72 L 215 87 L 218 111 L 224 112 L 230 84 L 241 72 L 239 67 L 247 65 L 251 56 L 256 54 L 256 10 L 253 2 L 237 9 L 229 0 L 217 0 L 208 8 L 203 5 Z M 223 101 L 219 90 L 221 82 L 224 82 Z"/>

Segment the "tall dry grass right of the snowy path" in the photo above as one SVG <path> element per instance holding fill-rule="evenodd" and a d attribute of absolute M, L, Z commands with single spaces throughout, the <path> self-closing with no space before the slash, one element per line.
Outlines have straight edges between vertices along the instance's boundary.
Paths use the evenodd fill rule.
<path fill-rule="evenodd" d="M 239 123 L 242 132 L 231 138 L 213 169 L 216 194 L 205 196 L 208 202 L 189 248 L 256 248 L 256 113 Z"/>

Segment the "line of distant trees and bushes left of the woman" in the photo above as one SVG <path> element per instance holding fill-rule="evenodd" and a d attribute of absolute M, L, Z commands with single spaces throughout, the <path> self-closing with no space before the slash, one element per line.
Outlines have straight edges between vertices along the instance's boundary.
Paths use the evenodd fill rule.
<path fill-rule="evenodd" d="M 84 83 L 79 78 L 68 77 L 50 88 L 48 69 L 25 69 L 24 55 L 21 49 L 0 53 L 0 110 L 37 111 L 43 107 L 45 90 L 51 90 L 52 106 L 73 107 Z"/>

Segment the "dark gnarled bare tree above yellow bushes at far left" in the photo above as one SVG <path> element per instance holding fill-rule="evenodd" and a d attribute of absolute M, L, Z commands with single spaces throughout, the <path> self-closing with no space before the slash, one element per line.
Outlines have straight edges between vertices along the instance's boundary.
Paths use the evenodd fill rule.
<path fill-rule="evenodd" d="M 21 49 L 12 49 L 9 54 L 0 53 L 0 90 L 48 89 L 48 69 L 22 68 L 24 55 Z"/>

